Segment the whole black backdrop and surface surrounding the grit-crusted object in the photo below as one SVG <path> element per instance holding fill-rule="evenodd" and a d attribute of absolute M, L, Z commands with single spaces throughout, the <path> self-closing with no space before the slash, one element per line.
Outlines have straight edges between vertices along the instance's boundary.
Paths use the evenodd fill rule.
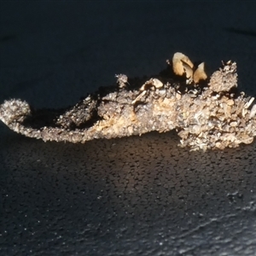
<path fill-rule="evenodd" d="M 238 64 L 256 96 L 253 1 L 0 2 L 0 102 L 61 108 L 181 51 Z M 44 143 L 0 124 L 1 255 L 255 255 L 255 143 L 191 153 L 172 132 Z"/>

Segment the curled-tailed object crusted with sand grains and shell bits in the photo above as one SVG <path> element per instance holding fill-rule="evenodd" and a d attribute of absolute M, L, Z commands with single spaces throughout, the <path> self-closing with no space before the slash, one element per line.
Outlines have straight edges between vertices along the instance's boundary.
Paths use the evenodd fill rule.
<path fill-rule="evenodd" d="M 35 110 L 21 100 L 5 101 L 0 119 L 13 131 L 45 142 L 86 143 L 175 129 L 180 146 L 191 150 L 253 143 L 256 105 L 253 97 L 236 90 L 236 62 L 228 61 L 208 80 L 204 62 L 195 67 L 177 53 L 169 64 L 172 75 L 160 73 L 144 83 L 128 83 L 119 74 L 114 90 L 99 90 L 64 110 Z"/>

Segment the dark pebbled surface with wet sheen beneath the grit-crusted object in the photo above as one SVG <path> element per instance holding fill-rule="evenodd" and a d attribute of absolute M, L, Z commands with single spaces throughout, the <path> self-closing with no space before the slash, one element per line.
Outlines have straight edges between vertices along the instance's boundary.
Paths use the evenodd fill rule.
<path fill-rule="evenodd" d="M 85 145 L 7 134 L 2 253 L 252 252 L 255 144 L 202 154 L 176 143 L 170 132 Z"/>

